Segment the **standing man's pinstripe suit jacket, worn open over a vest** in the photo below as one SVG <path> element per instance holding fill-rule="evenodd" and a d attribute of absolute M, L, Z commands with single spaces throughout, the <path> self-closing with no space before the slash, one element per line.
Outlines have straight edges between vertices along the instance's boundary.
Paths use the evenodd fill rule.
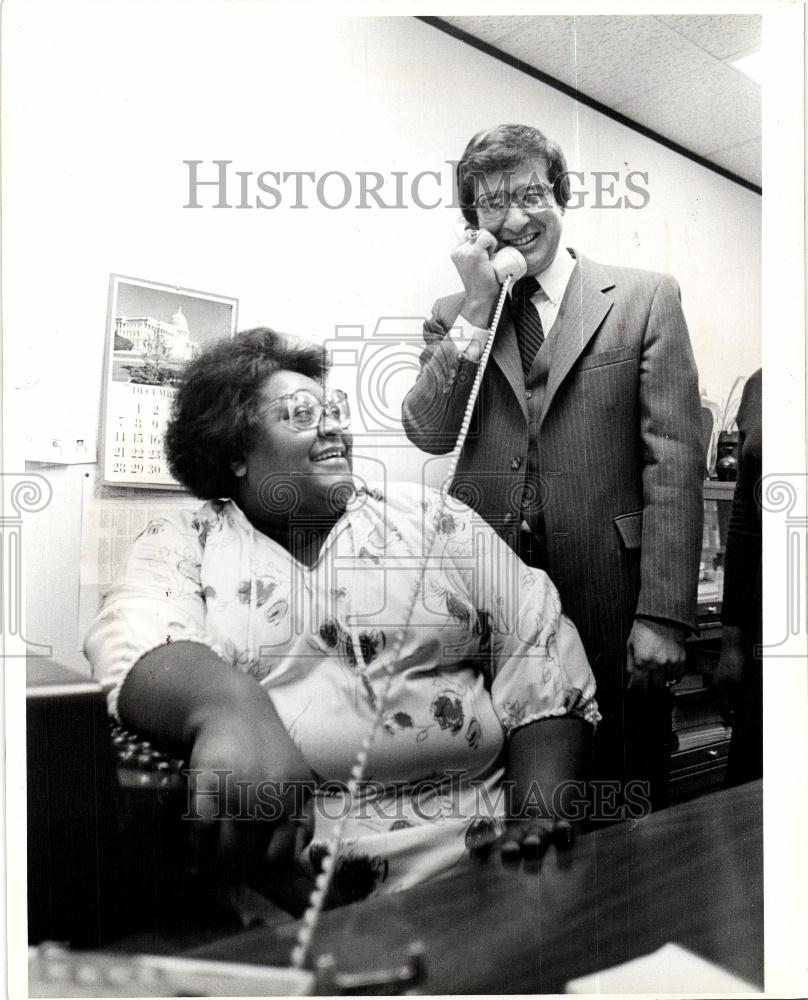
<path fill-rule="evenodd" d="M 447 336 L 462 302 L 435 304 L 404 401 L 410 440 L 431 454 L 453 447 L 477 367 Z M 579 257 L 527 379 L 505 310 L 453 493 L 514 547 L 523 521 L 543 535 L 545 568 L 610 712 L 634 616 L 696 624 L 701 434 L 671 277 Z"/>

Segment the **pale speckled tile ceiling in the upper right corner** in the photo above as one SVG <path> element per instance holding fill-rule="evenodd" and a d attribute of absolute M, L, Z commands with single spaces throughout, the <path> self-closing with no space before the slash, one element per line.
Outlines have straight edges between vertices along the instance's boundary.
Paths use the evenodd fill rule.
<path fill-rule="evenodd" d="M 760 87 L 721 61 L 758 44 L 759 16 L 445 20 L 685 149 L 721 151 L 721 166 L 760 183 Z"/>

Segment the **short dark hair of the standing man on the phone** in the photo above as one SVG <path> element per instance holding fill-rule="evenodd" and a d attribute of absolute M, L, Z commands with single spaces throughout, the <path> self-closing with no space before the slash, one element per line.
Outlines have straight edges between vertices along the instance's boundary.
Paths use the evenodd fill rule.
<path fill-rule="evenodd" d="M 484 174 L 518 170 L 526 160 L 547 162 L 547 178 L 556 202 L 565 208 L 570 200 L 567 161 L 561 147 L 532 125 L 496 125 L 478 132 L 457 164 L 457 190 L 463 216 L 477 226 L 477 185 Z"/>

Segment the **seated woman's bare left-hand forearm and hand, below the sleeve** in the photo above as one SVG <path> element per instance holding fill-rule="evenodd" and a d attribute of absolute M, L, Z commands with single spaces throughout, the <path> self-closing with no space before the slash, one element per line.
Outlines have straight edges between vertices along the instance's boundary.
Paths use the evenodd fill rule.
<path fill-rule="evenodd" d="M 188 757 L 191 850 L 209 876 L 302 909 L 311 887 L 290 871 L 313 776 L 263 688 L 207 646 L 174 642 L 132 667 L 118 711 Z"/>

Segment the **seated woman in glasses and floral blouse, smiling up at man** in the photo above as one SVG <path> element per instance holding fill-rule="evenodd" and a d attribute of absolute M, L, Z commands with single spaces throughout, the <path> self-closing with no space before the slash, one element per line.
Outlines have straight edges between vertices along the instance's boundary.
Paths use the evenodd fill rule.
<path fill-rule="evenodd" d="M 325 376 L 321 348 L 264 328 L 188 365 L 166 451 L 206 503 L 137 539 L 85 651 L 112 714 L 189 759 L 228 878 L 271 893 L 295 846 L 311 875 L 344 821 L 344 902 L 468 864 L 500 834 L 503 856 L 540 855 L 599 716 L 547 576 L 454 499 L 356 483 Z"/>

